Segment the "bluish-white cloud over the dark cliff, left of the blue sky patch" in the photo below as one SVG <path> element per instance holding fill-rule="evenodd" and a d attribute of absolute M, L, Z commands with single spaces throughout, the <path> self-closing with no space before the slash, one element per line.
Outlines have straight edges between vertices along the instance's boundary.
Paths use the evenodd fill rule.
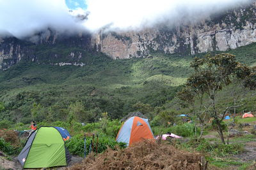
<path fill-rule="evenodd" d="M 0 32 L 17 38 L 49 27 L 72 32 L 81 26 L 68 12 L 64 0 L 0 0 Z"/>

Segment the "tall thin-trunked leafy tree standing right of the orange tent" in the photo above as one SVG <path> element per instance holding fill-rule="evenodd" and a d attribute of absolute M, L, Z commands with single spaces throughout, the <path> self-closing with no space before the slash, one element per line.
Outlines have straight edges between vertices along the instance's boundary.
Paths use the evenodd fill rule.
<path fill-rule="evenodd" d="M 242 104 L 232 104 L 233 106 L 224 108 L 218 103 L 218 94 L 237 81 L 241 82 L 244 89 L 255 90 L 255 67 L 248 67 L 236 62 L 235 56 L 230 53 L 207 55 L 203 59 L 195 57 L 195 60 L 191 62 L 191 67 L 194 69 L 194 73 L 189 76 L 186 87 L 179 92 L 178 97 L 186 104 L 193 106 L 199 101 L 198 119 L 203 119 L 200 117 L 202 113 L 207 113 L 214 118 L 221 142 L 225 144 L 221 122 L 230 109 L 242 106 Z M 243 97 L 241 98 L 243 101 Z"/>

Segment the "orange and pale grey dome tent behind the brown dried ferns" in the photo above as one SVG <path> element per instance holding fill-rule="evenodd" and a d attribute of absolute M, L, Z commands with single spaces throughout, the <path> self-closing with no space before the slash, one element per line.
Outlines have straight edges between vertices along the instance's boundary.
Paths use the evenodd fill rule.
<path fill-rule="evenodd" d="M 116 136 L 116 141 L 127 143 L 127 146 L 142 139 L 154 139 L 154 135 L 148 120 L 140 117 L 126 120 Z"/>

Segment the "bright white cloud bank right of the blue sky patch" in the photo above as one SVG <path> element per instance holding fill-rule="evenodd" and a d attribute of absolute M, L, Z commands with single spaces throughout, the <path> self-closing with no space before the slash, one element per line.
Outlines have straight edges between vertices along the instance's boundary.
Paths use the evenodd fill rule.
<path fill-rule="evenodd" d="M 86 0 L 90 11 L 84 23 L 90 30 L 140 29 L 156 24 L 195 21 L 250 0 Z"/>

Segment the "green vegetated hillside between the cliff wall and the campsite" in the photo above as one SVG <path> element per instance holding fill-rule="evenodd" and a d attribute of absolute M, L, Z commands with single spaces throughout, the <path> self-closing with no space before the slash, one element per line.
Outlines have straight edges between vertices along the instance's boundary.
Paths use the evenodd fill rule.
<path fill-rule="evenodd" d="M 227 52 L 255 66 L 255 47 L 252 44 Z M 58 48 L 65 50 L 69 49 Z M 111 118 L 123 117 L 136 110 L 134 104 L 138 102 L 152 107 L 168 105 L 191 73 L 193 57 L 152 53 L 144 59 L 112 60 L 90 53 L 83 67 L 20 62 L 0 71 L 0 103 L 4 105 L 0 118 L 24 123 L 32 119 L 66 120 L 76 108 L 85 110 L 81 121 L 92 122 L 102 112 Z M 37 115 L 31 117 L 32 112 Z"/>

